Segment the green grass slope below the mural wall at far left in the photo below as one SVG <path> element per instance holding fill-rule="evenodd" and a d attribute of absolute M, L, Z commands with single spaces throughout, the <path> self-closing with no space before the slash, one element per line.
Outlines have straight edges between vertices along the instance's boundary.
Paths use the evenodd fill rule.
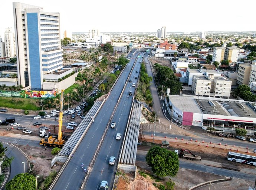
<path fill-rule="evenodd" d="M 0 97 L 0 107 L 24 109 L 24 110 L 40 110 L 37 99 Z"/>

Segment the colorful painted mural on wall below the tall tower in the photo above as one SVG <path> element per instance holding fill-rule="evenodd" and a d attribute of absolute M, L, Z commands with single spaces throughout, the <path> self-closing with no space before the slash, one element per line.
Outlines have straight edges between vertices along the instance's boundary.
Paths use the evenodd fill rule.
<path fill-rule="evenodd" d="M 54 98 L 57 95 L 57 90 L 52 91 L 32 91 L 32 90 L 22 90 L 21 97 L 23 98 Z"/>

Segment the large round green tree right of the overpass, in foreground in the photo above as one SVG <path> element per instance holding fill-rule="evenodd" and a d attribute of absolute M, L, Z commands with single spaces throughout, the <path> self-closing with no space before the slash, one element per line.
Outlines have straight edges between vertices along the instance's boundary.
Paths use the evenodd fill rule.
<path fill-rule="evenodd" d="M 178 155 L 159 146 L 154 146 L 146 155 L 146 162 L 157 176 L 176 176 L 179 170 Z"/>

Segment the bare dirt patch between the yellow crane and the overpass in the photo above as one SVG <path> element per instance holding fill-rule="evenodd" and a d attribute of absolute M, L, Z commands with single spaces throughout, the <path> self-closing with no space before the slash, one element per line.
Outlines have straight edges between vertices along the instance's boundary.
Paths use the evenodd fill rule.
<path fill-rule="evenodd" d="M 51 154 L 52 149 L 22 145 L 16 146 L 27 155 L 30 164 L 32 164 L 32 173 L 36 175 L 46 177 L 52 171 L 59 172 L 62 167 L 62 163 L 57 163 L 52 168 L 50 167 L 51 160 L 54 157 Z"/>

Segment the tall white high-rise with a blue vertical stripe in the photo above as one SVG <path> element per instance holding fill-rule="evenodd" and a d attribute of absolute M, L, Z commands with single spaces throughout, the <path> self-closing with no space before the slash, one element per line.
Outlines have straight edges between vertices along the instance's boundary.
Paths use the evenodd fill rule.
<path fill-rule="evenodd" d="M 60 14 L 13 3 L 19 85 L 43 88 L 43 75 L 63 67 Z"/>

